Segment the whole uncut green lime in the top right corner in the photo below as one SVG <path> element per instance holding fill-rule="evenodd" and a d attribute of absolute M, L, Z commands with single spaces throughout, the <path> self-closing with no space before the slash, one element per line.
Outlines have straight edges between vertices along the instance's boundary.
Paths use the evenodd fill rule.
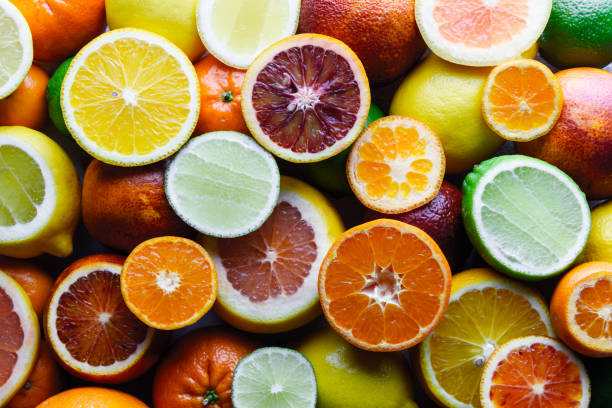
<path fill-rule="evenodd" d="M 542 56 L 558 68 L 612 62 L 612 1 L 553 0 L 539 40 Z"/>

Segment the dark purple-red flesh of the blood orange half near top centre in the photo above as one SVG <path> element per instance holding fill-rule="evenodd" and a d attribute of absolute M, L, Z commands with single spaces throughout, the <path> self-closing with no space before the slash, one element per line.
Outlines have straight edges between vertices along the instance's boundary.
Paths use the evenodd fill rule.
<path fill-rule="evenodd" d="M 263 132 L 295 153 L 320 153 L 357 121 L 360 88 L 348 61 L 313 45 L 279 52 L 257 75 L 253 107 Z"/>

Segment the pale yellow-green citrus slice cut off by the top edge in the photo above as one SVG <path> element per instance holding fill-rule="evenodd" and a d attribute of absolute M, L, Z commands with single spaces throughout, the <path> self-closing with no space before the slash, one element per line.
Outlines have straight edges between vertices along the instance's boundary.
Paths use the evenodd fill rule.
<path fill-rule="evenodd" d="M 299 14 L 299 0 L 206 0 L 196 8 L 206 49 L 238 69 L 247 69 L 263 50 L 295 34 Z"/>

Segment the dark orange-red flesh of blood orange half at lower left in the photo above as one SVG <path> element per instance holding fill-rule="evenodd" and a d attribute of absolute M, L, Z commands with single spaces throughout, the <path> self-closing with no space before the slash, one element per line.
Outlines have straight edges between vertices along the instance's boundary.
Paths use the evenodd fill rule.
<path fill-rule="evenodd" d="M 95 367 L 126 360 L 148 332 L 123 302 L 119 275 L 103 270 L 81 277 L 61 295 L 56 328 L 72 357 Z"/>

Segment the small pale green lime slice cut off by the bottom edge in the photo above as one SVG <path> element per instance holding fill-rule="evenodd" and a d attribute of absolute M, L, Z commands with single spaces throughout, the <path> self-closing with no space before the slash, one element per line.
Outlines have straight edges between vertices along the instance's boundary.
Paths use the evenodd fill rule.
<path fill-rule="evenodd" d="M 295 350 L 265 347 L 236 366 L 235 408 L 314 408 L 317 381 L 310 361 Z"/>

